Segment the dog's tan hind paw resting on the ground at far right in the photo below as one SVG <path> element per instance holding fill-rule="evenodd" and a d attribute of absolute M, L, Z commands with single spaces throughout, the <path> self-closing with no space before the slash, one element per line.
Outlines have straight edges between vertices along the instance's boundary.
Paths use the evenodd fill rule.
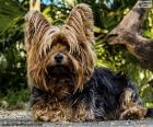
<path fill-rule="evenodd" d="M 120 119 L 142 119 L 146 114 L 146 108 L 143 106 L 133 106 L 122 112 Z"/>

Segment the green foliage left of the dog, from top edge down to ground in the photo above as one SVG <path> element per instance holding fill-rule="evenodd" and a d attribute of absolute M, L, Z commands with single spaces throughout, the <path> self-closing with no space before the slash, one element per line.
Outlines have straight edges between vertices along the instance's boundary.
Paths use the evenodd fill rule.
<path fill-rule="evenodd" d="M 0 99 L 7 100 L 9 105 L 17 103 L 22 93 L 17 91 L 27 88 L 24 13 L 16 1 L 0 1 Z"/>

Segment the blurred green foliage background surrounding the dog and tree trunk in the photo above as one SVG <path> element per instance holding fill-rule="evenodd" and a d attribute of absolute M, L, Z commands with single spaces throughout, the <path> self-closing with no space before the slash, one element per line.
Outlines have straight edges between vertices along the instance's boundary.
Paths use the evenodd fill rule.
<path fill-rule="evenodd" d="M 128 74 L 138 83 L 144 104 L 153 107 L 153 72 L 144 68 L 123 46 L 110 46 L 103 39 L 136 1 L 42 0 L 40 8 L 54 25 L 60 25 L 73 5 L 81 2 L 90 4 L 95 20 L 96 65 Z M 28 10 L 28 0 L 0 0 L 0 108 L 25 108 L 30 99 L 24 46 L 24 15 Z M 153 38 L 153 9 L 150 9 L 142 27 L 143 35 Z"/>

